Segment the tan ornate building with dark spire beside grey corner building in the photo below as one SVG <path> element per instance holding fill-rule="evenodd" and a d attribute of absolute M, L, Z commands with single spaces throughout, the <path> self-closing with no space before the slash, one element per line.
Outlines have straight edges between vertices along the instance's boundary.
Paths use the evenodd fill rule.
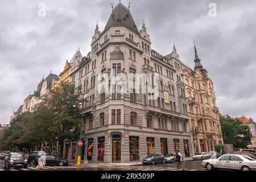
<path fill-rule="evenodd" d="M 193 154 L 214 151 L 214 146 L 223 144 L 213 81 L 201 64 L 196 46 L 194 61 L 194 69 L 182 64 Z"/>

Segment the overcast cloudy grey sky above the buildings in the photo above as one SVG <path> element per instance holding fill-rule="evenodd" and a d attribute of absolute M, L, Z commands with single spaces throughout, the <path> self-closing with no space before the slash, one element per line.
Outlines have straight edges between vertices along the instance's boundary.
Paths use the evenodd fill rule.
<path fill-rule="evenodd" d="M 38 16 L 41 2 L 46 17 Z M 217 17 L 208 15 L 212 2 Z M 175 41 L 181 59 L 193 66 L 195 39 L 221 113 L 256 120 L 255 7 L 254 0 L 132 0 L 130 11 L 139 29 L 144 19 L 152 48 L 163 55 Z M 86 55 L 97 20 L 102 31 L 110 13 L 109 0 L 1 0 L 0 123 L 9 123 L 42 77 L 59 74 L 79 47 Z"/>

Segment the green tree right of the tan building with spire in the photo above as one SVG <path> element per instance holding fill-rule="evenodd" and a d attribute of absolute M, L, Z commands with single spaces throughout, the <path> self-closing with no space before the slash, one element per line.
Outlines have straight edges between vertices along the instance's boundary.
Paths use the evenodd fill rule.
<path fill-rule="evenodd" d="M 234 148 L 247 148 L 251 142 L 251 133 L 248 126 L 242 125 L 238 119 L 229 115 L 220 117 L 224 143 L 233 144 Z"/>

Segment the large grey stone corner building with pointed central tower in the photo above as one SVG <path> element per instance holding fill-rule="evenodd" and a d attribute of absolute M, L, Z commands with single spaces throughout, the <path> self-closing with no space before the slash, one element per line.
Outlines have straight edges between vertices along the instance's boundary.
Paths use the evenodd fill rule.
<path fill-rule="evenodd" d="M 101 73 L 159 74 L 159 80 L 147 78 L 157 86 L 159 96 L 142 88 L 129 89 L 123 81 L 109 82 L 109 90 L 97 89 L 106 81 Z M 129 77 L 135 84 L 137 78 Z M 187 101 L 181 62 L 176 48 L 167 56 L 151 49 L 151 40 L 143 23 L 139 31 L 127 7 L 119 3 L 112 11 L 104 31 L 98 25 L 92 38 L 91 52 L 73 57 L 71 83 L 82 90 L 84 129 L 82 158 L 92 162 L 141 161 L 151 153 L 168 154 L 180 150 L 185 158 L 192 155 Z M 103 90 L 103 91 L 102 91 Z M 72 153 L 72 154 L 71 154 Z M 67 142 L 64 157 L 75 159 L 76 143 Z"/>

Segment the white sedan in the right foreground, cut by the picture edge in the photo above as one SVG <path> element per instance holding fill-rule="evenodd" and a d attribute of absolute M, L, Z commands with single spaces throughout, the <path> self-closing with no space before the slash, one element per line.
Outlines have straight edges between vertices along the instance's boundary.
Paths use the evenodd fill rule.
<path fill-rule="evenodd" d="M 244 155 L 225 154 L 218 159 L 203 160 L 202 166 L 209 171 L 213 169 L 256 171 L 256 160 Z"/>

